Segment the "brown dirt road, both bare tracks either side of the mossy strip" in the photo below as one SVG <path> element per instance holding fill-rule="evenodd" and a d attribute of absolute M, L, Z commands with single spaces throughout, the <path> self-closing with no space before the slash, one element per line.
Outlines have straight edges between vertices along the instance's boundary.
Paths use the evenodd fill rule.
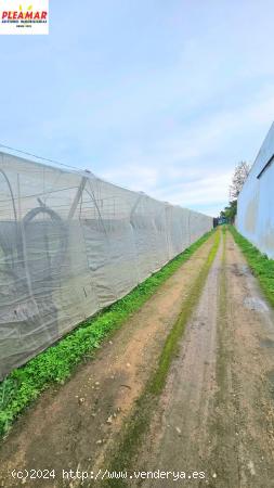
<path fill-rule="evenodd" d="M 185 472 L 186 479 L 128 479 L 125 486 L 274 487 L 274 314 L 232 236 L 224 242 L 129 466 Z M 63 480 L 62 471 L 96 471 L 109 463 L 211 246 L 212 237 L 95 360 L 18 420 L 0 448 L 0 486 L 80 486 Z M 56 477 L 12 477 L 13 470 L 24 468 L 55 470 Z M 205 475 L 190 480 L 193 472 Z"/>

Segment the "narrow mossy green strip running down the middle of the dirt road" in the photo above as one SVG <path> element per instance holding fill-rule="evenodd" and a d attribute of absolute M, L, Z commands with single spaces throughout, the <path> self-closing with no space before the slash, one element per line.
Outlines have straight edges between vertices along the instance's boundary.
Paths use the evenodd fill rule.
<path fill-rule="evenodd" d="M 153 372 L 152 377 L 148 380 L 143 394 L 136 401 L 131 420 L 126 425 L 126 428 L 121 434 L 121 439 L 118 447 L 116 447 L 115 452 L 110 455 L 112 460 L 108 467 L 110 473 L 125 471 L 132 467 L 138 448 L 140 447 L 144 434 L 149 427 L 152 415 L 157 408 L 160 394 L 166 385 L 166 380 L 172 359 L 179 351 L 180 338 L 182 337 L 184 328 L 191 318 L 204 290 L 219 244 L 220 232 L 217 232 L 208 257 L 200 268 L 197 279 L 192 284 L 188 294 L 182 304 L 182 309 L 178 320 L 168 334 L 158 360 L 158 364 Z M 112 487 L 122 487 L 125 481 L 114 478 L 105 480 L 105 485 Z"/>

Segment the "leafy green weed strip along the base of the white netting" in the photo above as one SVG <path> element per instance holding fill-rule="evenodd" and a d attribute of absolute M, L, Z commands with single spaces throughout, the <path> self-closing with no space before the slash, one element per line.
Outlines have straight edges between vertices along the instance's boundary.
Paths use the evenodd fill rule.
<path fill-rule="evenodd" d="M 127 296 L 81 323 L 24 367 L 11 372 L 0 383 L 0 436 L 9 431 L 18 414 L 37 399 L 41 391 L 54 383 L 64 383 L 77 364 L 90 359 L 103 339 L 139 310 L 156 290 L 209 239 L 212 232 L 205 234 Z"/>

